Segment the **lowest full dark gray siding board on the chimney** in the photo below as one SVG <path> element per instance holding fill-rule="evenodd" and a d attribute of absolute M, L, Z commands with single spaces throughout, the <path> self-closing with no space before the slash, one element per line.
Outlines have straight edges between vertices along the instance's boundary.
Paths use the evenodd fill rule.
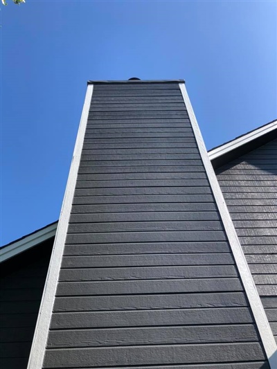
<path fill-rule="evenodd" d="M 199 350 L 202 355 L 199 356 Z M 240 343 L 236 345 L 159 345 L 157 347 L 134 346 L 128 348 L 101 348 L 51 350 L 46 352 L 45 368 L 55 368 L 57 362 L 72 368 L 93 366 L 128 366 L 163 363 L 214 363 L 218 361 L 247 361 L 264 359 L 259 343 Z"/>

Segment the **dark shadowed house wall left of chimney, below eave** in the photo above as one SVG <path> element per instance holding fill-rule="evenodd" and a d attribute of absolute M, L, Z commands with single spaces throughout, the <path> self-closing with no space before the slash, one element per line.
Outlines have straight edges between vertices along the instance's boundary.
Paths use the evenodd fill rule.
<path fill-rule="evenodd" d="M 26 369 L 53 238 L 0 266 L 0 366 Z"/>

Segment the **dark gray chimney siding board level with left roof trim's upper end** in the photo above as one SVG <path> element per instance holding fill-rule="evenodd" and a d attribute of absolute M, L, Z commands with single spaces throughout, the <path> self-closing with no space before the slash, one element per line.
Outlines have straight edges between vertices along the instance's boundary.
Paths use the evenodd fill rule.
<path fill-rule="evenodd" d="M 152 231 L 221 231 L 222 223 L 218 220 L 198 222 L 106 222 L 69 224 L 67 233 L 105 233 L 105 232 L 152 232 Z"/>

